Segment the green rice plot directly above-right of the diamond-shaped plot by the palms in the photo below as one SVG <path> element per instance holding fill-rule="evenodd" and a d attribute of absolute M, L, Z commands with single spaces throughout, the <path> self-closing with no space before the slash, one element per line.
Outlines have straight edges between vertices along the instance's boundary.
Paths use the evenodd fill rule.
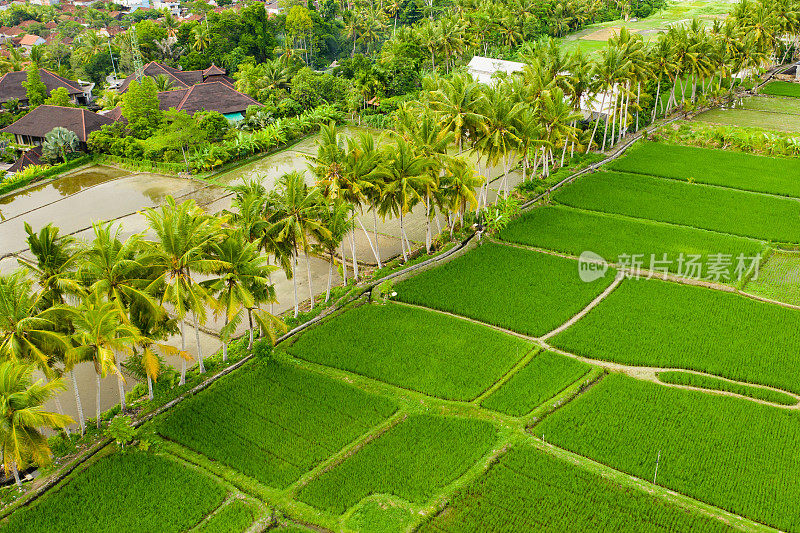
<path fill-rule="evenodd" d="M 449 400 L 471 400 L 532 346 L 523 340 L 399 304 L 357 307 L 305 333 L 287 351 Z"/>

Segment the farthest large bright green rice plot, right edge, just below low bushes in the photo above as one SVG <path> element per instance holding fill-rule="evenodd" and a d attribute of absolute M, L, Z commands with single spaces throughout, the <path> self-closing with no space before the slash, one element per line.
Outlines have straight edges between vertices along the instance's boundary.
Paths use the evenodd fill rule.
<path fill-rule="evenodd" d="M 800 197 L 800 159 L 647 142 L 634 146 L 609 168 Z"/>

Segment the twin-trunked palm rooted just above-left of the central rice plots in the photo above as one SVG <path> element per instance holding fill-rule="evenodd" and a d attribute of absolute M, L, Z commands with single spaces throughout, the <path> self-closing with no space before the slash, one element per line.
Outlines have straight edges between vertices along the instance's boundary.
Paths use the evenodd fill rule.
<path fill-rule="evenodd" d="M 300 248 L 306 256 L 308 292 L 311 309 L 314 308 L 314 288 L 311 282 L 311 258 L 309 257 L 309 236 L 311 233 L 326 238 L 330 232 L 319 222 L 319 209 L 322 195 L 316 187 L 306 185 L 300 172 L 289 172 L 278 179 L 273 191 L 275 211 L 270 220 L 275 225 L 275 238 L 292 250 L 292 280 L 294 281 L 294 316 L 300 312 L 297 298 L 297 256 Z"/>

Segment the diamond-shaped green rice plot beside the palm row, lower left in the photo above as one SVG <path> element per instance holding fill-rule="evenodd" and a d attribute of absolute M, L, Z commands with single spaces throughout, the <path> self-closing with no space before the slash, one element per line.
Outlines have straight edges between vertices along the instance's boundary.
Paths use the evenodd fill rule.
<path fill-rule="evenodd" d="M 159 421 L 158 431 L 283 488 L 395 410 L 384 398 L 259 360 L 178 404 Z"/>

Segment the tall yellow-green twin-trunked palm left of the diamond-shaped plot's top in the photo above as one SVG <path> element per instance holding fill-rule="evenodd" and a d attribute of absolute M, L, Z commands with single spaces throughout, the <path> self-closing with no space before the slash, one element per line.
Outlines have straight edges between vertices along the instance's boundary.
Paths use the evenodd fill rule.
<path fill-rule="evenodd" d="M 208 246 L 219 234 L 218 221 L 207 216 L 194 200 L 180 205 L 168 196 L 159 210 L 148 209 L 145 218 L 156 234 L 150 264 L 159 271 L 151 287 L 164 285 L 163 300 L 169 302 L 181 322 L 181 351 L 186 351 L 184 321 L 191 311 L 195 319 L 198 365 L 205 372 L 200 347 L 199 325 L 206 320 L 206 306 L 216 306 L 214 299 L 198 284 L 195 275 L 219 271 L 225 266 L 208 256 Z M 148 290 L 150 290 L 148 288 Z M 180 384 L 186 383 L 186 359 L 181 362 Z"/>

